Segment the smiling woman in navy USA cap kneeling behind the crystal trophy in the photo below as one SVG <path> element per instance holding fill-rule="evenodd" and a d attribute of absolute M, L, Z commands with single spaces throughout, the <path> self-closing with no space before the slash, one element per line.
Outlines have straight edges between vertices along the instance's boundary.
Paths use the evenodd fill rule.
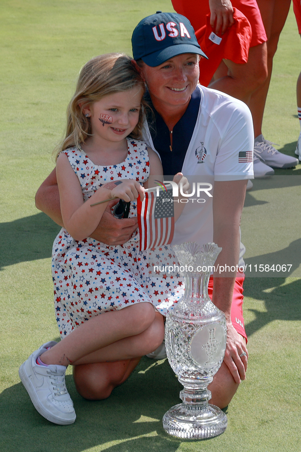
<path fill-rule="evenodd" d="M 236 268 L 236 265 L 243 265 L 244 248 L 239 246 L 239 224 L 247 181 L 253 178 L 254 130 L 250 110 L 243 102 L 227 94 L 198 85 L 199 56 L 204 54 L 190 22 L 184 16 L 157 12 L 144 18 L 133 32 L 132 46 L 135 67 L 147 85 L 146 98 L 151 102 L 155 117 L 150 118 L 151 127 L 144 138 L 159 153 L 163 174 L 168 176 L 181 172 L 201 182 L 210 178 L 213 187 L 213 197 L 207 197 L 205 203 L 185 204 L 183 215 L 175 224 L 175 243 L 192 241 L 203 245 L 215 242 L 223 248 L 216 260 L 216 267 L 221 265 L 225 268 L 227 265 L 228 268 Z M 117 128 L 122 128 L 122 125 Z M 115 219 L 111 213 L 112 203 L 108 204 L 91 236 L 99 242 L 115 246 L 127 242 L 138 223 L 134 217 Z M 63 225 L 54 170 L 38 190 L 36 206 Z M 88 269 L 87 275 L 89 268 L 84 267 L 84 260 L 82 263 L 78 274 L 84 268 Z M 240 381 L 245 379 L 248 350 L 242 313 L 244 275 L 236 275 L 235 271 L 227 275 L 224 273 L 228 277 L 221 276 L 215 273 L 210 277 L 209 295 L 212 296 L 212 302 L 225 312 L 227 348 L 224 362 L 208 388 L 212 392 L 210 402 L 224 408 L 230 403 Z M 64 279 L 60 281 L 60 285 L 64 283 Z M 80 284 L 86 289 L 85 281 L 80 281 Z M 78 291 L 80 284 L 75 282 Z M 91 284 L 87 287 L 89 289 Z M 171 295 L 172 290 L 168 293 Z M 92 295 L 95 296 L 95 292 Z M 101 294 L 98 298 L 101 298 Z M 143 305 L 147 306 L 147 303 Z M 132 307 L 138 308 L 140 305 Z M 126 309 L 116 313 L 120 315 Z M 63 309 L 59 312 L 62 313 Z M 153 315 L 159 317 L 157 313 Z M 78 334 L 84 326 L 78 326 Z M 149 349 L 155 350 L 163 334 L 162 319 L 159 317 L 158 323 L 152 323 L 150 328 L 152 331 L 146 330 L 150 334 L 148 337 L 152 337 Z M 156 334 L 159 337 L 155 337 Z M 131 342 L 134 339 L 122 340 Z M 144 346 L 144 350 L 140 349 L 139 353 L 146 353 L 146 343 L 145 339 L 136 344 L 137 347 Z M 57 347 L 59 345 L 53 350 Z M 109 347 L 113 353 L 117 345 Z M 71 356 L 67 356 L 72 360 Z M 94 357 L 95 360 L 90 364 L 73 367 L 76 388 L 86 398 L 108 396 L 114 387 L 129 376 L 138 362 L 138 358 L 103 362 L 100 352 L 95 352 Z"/>

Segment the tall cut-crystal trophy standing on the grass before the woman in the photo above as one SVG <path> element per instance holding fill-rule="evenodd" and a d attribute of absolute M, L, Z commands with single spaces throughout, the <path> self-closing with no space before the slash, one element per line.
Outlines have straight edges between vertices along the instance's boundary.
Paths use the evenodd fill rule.
<path fill-rule="evenodd" d="M 225 314 L 208 296 L 211 269 L 222 248 L 208 243 L 201 249 L 189 242 L 173 249 L 184 268 L 185 294 L 167 315 L 165 342 L 169 363 L 184 389 L 182 403 L 163 416 L 163 428 L 178 438 L 212 438 L 227 427 L 226 414 L 208 403 L 207 389 L 226 350 Z"/>

